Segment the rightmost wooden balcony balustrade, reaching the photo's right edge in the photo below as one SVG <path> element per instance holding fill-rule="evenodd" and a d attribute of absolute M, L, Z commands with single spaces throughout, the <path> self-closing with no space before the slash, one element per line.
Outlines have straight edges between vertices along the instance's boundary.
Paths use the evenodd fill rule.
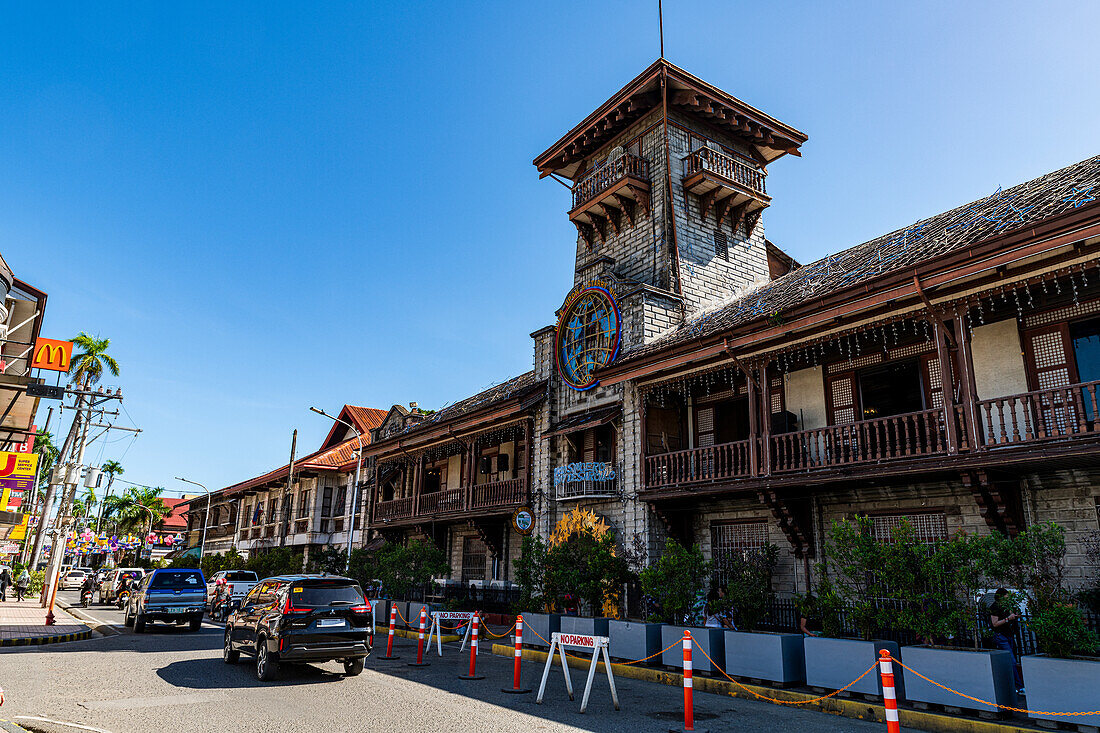
<path fill-rule="evenodd" d="M 1085 382 L 979 400 L 980 437 L 993 447 L 1100 433 L 1098 385 Z"/>

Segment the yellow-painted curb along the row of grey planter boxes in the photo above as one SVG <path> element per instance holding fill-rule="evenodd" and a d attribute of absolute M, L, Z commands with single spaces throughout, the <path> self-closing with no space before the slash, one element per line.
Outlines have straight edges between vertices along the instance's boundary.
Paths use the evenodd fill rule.
<path fill-rule="evenodd" d="M 515 647 L 506 644 L 494 644 L 493 654 L 502 657 L 513 657 L 515 655 Z M 547 653 L 539 652 L 537 649 L 522 649 L 522 658 L 527 661 L 546 663 Z M 588 668 L 588 664 L 591 664 L 588 659 L 569 658 L 569 666 L 574 669 L 586 670 Z M 603 661 L 597 663 L 597 665 L 600 669 L 604 668 Z M 615 663 L 612 663 L 612 671 L 616 677 L 623 677 L 626 679 L 657 682 L 658 685 L 668 685 L 671 687 L 683 687 L 683 676 L 676 672 L 653 669 L 650 667 L 634 667 Z M 761 687 L 759 685 L 745 685 L 744 687 L 746 689 L 741 689 L 730 681 L 714 679 L 713 677 L 696 676 L 692 679 L 693 687 L 696 691 L 713 692 L 714 694 L 724 694 L 726 697 L 741 698 L 745 700 L 759 700 L 751 693 L 747 692 L 746 689 L 777 700 L 785 700 L 790 702 L 812 700 L 816 697 L 805 692 L 774 689 L 771 687 Z M 759 701 L 768 702 L 768 700 Z M 839 715 L 842 718 L 854 718 L 856 720 L 875 721 L 878 723 L 886 722 L 886 712 L 883 711 L 881 703 L 866 702 L 862 700 L 853 700 L 849 698 L 828 698 L 827 700 L 807 703 L 805 705 L 801 705 L 800 708 L 802 710 L 816 709 L 821 712 Z M 921 731 L 931 731 L 932 733 L 1035 733 L 1034 727 L 1022 727 L 1020 725 L 1013 725 L 1012 723 L 971 720 L 968 718 L 954 718 L 952 715 L 941 715 L 937 713 L 930 713 L 921 710 L 908 710 L 904 708 L 899 708 L 898 712 L 901 716 L 901 724 L 903 726 L 915 727 Z"/>

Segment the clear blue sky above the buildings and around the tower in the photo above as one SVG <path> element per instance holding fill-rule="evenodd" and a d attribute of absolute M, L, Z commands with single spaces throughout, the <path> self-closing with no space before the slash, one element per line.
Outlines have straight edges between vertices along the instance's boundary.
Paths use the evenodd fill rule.
<path fill-rule="evenodd" d="M 0 252 L 144 430 L 89 460 L 222 486 L 315 448 L 311 404 L 529 369 L 575 241 L 531 160 L 656 58 L 656 4 L 9 3 Z M 1100 4 L 664 4 L 673 63 L 810 135 L 765 217 L 803 262 L 1100 152 Z"/>

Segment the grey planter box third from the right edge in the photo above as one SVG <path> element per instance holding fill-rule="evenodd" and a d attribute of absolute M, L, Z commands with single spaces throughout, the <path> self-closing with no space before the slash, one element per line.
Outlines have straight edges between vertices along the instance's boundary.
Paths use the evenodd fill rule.
<path fill-rule="evenodd" d="M 839 690 L 856 679 L 871 665 L 879 660 L 879 650 L 889 649 L 895 659 L 908 659 L 894 642 L 862 642 L 854 638 L 825 638 L 824 636 L 806 636 L 802 639 L 806 655 L 806 685 L 823 687 L 826 690 Z M 900 668 L 894 669 L 894 691 L 899 700 L 905 698 L 905 686 Z M 882 682 L 878 668 L 848 688 L 853 692 L 864 694 L 882 694 Z"/>

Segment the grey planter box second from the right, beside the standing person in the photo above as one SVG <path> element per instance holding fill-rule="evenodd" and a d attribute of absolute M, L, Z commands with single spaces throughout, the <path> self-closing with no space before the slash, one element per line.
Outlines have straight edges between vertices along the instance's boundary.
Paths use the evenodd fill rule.
<path fill-rule="evenodd" d="M 1012 681 L 1012 655 L 1008 652 L 944 649 L 934 646 L 906 646 L 901 652 L 908 666 L 941 685 L 998 704 L 1016 704 L 1016 688 Z M 1000 712 L 994 705 L 983 705 L 967 700 L 926 682 L 916 675 L 910 675 L 905 679 L 905 699 Z"/>

